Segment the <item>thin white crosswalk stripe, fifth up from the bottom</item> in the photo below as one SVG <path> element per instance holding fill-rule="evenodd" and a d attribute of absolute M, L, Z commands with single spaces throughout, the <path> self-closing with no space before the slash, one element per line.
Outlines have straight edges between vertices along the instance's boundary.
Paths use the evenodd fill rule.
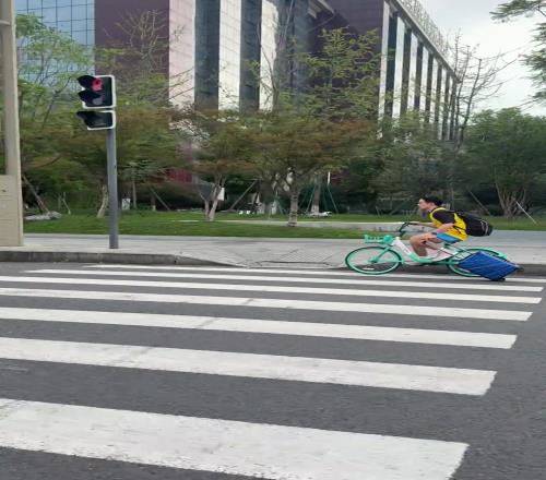
<path fill-rule="evenodd" d="M 157 280 L 111 280 L 105 278 L 67 278 L 67 277 L 19 277 L 0 276 L 0 281 L 20 284 L 59 284 L 59 285 L 93 285 L 112 287 L 150 287 L 150 288 L 180 288 L 189 290 L 227 290 L 227 291 L 260 291 L 270 293 L 305 293 L 320 296 L 348 297 L 388 297 L 427 300 L 455 300 L 495 303 L 541 303 L 541 297 L 510 297 L 506 295 L 471 295 L 430 291 L 392 291 L 392 290 L 361 290 L 345 288 L 312 288 L 276 285 L 245 285 L 245 284 L 200 284 L 194 281 L 157 281 Z"/>

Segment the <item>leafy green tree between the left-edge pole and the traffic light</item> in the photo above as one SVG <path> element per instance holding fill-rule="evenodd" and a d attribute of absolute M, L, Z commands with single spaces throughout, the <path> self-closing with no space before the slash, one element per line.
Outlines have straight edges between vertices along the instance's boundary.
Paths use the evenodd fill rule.
<path fill-rule="evenodd" d="M 60 160 L 57 145 L 71 128 L 72 81 L 93 64 L 93 57 L 87 47 L 34 15 L 17 15 L 16 22 L 23 184 L 38 207 L 48 211 L 33 177 L 38 169 Z"/>

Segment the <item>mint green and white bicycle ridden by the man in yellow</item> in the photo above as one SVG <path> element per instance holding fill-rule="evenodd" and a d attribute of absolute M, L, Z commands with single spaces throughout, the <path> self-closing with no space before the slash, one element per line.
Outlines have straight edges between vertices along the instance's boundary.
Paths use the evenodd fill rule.
<path fill-rule="evenodd" d="M 485 252 L 499 259 L 507 257 L 505 253 L 491 249 L 462 249 L 455 247 L 453 243 L 446 243 L 439 251 L 450 254 L 449 259 L 440 261 L 425 259 L 413 252 L 401 239 L 406 233 L 408 225 L 411 225 L 410 221 L 402 224 L 394 235 L 387 235 L 384 237 L 365 235 L 364 242 L 369 243 L 369 245 L 349 252 L 345 257 L 345 264 L 359 274 L 384 275 L 400 268 L 410 260 L 414 265 L 446 265 L 451 272 L 458 275 L 477 277 L 478 275 L 462 268 L 459 264 L 467 256 L 477 252 Z"/>

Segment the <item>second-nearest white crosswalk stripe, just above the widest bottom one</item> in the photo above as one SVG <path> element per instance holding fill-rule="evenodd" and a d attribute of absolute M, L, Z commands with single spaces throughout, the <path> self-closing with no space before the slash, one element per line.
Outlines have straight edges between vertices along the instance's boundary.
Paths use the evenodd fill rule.
<path fill-rule="evenodd" d="M 496 372 L 215 350 L 0 337 L 0 358 L 484 395 Z"/>

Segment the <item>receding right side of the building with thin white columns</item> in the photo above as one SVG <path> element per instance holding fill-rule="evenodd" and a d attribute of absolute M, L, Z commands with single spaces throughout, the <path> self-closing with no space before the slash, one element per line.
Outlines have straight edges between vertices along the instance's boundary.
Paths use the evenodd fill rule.
<path fill-rule="evenodd" d="M 379 113 L 420 111 L 442 139 L 453 135 L 456 87 L 449 46 L 418 0 L 329 0 L 359 34 L 378 34 Z"/>

